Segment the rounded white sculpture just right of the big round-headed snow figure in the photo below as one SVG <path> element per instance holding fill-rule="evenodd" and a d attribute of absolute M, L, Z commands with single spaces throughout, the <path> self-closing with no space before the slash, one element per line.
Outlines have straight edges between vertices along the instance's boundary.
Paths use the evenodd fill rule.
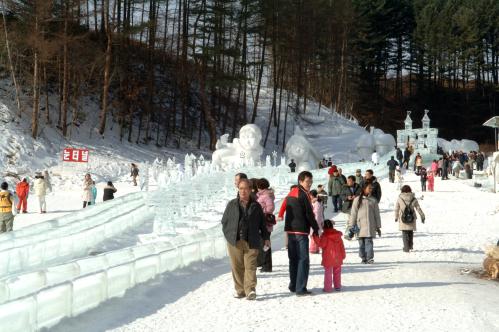
<path fill-rule="evenodd" d="M 286 159 L 295 161 L 297 172 L 316 168 L 321 158 L 305 136 L 300 131 L 295 132 L 286 143 Z"/>

